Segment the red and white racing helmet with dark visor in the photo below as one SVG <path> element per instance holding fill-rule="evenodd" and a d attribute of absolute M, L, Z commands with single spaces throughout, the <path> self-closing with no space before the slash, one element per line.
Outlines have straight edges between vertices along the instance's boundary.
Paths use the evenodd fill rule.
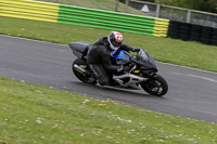
<path fill-rule="evenodd" d="M 123 35 L 118 31 L 111 31 L 107 38 L 110 48 L 117 51 L 123 42 Z"/>

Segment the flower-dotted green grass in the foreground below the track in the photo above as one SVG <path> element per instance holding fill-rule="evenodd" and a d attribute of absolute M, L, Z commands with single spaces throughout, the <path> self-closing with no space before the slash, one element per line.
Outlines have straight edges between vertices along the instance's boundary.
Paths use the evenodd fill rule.
<path fill-rule="evenodd" d="M 7 78 L 0 110 L 0 144 L 217 143 L 216 125 Z"/>

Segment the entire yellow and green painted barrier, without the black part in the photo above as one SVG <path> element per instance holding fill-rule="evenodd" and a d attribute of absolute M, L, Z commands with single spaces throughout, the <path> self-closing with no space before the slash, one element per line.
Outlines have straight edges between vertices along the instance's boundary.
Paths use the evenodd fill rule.
<path fill-rule="evenodd" d="M 167 37 L 168 19 L 35 0 L 0 0 L 0 16 Z"/>

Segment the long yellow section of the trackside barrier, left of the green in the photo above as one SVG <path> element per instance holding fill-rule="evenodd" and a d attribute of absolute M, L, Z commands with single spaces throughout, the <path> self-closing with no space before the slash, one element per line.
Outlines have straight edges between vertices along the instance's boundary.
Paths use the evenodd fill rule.
<path fill-rule="evenodd" d="M 0 0 L 0 16 L 58 23 L 59 4 L 33 0 Z"/>

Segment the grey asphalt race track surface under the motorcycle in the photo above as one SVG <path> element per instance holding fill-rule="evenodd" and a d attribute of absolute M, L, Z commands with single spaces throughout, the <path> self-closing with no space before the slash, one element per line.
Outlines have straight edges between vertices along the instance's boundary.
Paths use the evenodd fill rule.
<path fill-rule="evenodd" d="M 75 58 L 68 45 L 0 35 L 0 77 L 217 123 L 216 73 L 157 63 L 169 86 L 168 93 L 157 97 L 142 90 L 82 83 L 71 69 Z"/>

